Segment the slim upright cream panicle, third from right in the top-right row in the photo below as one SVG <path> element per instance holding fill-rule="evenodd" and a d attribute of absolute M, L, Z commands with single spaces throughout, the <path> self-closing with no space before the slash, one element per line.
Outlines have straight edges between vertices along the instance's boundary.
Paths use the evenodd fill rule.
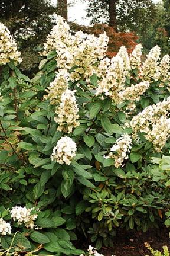
<path fill-rule="evenodd" d="M 142 57 L 142 44 L 137 44 L 133 49 L 133 52 L 130 54 L 130 69 L 139 69 L 141 65 Z"/>

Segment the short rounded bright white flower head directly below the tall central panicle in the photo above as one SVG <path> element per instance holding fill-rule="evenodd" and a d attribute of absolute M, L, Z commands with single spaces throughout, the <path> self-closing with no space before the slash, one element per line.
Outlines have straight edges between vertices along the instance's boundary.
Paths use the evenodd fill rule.
<path fill-rule="evenodd" d="M 76 143 L 70 137 L 62 137 L 54 147 L 51 159 L 58 164 L 71 164 L 71 159 L 76 156 Z"/>

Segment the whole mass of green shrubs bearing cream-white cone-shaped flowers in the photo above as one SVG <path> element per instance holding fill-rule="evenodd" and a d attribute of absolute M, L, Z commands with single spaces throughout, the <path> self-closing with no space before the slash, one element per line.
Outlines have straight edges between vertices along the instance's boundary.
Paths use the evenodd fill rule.
<path fill-rule="evenodd" d="M 1 247 L 84 255 L 78 238 L 107 247 L 117 228 L 165 221 L 169 176 L 155 179 L 153 159 L 170 150 L 169 55 L 155 46 L 142 62 L 138 44 L 109 59 L 105 33 L 57 17 L 30 79 L 0 29 Z"/>

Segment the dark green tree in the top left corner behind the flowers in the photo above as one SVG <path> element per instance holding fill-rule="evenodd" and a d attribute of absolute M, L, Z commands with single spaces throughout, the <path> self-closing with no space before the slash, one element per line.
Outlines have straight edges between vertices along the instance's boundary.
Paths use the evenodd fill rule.
<path fill-rule="evenodd" d="M 38 46 L 53 27 L 57 7 L 50 0 L 1 0 L 0 22 L 8 27 L 22 52 L 21 69 L 32 69 L 40 61 Z"/>

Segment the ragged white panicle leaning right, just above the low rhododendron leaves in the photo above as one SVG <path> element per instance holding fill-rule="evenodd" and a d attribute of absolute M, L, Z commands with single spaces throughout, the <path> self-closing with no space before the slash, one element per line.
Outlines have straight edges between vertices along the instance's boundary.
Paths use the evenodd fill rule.
<path fill-rule="evenodd" d="M 119 168 L 122 166 L 123 161 L 125 159 L 128 159 L 128 153 L 130 152 L 130 149 L 132 144 L 132 139 L 128 135 L 128 133 L 125 133 L 122 135 L 119 139 L 116 140 L 115 145 L 112 146 L 110 149 L 110 153 L 107 156 L 103 156 L 105 159 L 112 158 L 115 160 L 115 167 Z"/>

